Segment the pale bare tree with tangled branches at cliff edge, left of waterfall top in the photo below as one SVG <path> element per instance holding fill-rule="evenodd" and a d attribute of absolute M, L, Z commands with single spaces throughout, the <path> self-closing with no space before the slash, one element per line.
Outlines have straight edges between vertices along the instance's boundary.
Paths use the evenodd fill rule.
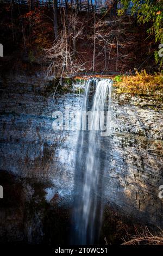
<path fill-rule="evenodd" d="M 69 29 L 68 29 L 69 28 Z M 46 49 L 46 59 L 51 61 L 47 69 L 47 76 L 63 76 L 64 74 L 74 75 L 79 71 L 84 71 L 84 63 L 79 58 L 75 58 L 76 39 L 82 34 L 83 27 L 77 27 L 77 16 L 66 26 L 66 17 L 64 15 L 64 24 L 58 38 L 54 40 L 53 46 Z M 73 47 L 71 47 L 71 41 Z"/>

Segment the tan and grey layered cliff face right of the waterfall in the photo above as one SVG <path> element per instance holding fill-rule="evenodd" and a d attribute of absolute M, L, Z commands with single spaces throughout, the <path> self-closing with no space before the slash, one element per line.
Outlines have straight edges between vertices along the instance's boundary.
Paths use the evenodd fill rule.
<path fill-rule="evenodd" d="M 112 98 L 106 197 L 125 211 L 162 225 L 162 103 L 147 95 Z M 108 189 L 107 189 L 108 188 Z"/>

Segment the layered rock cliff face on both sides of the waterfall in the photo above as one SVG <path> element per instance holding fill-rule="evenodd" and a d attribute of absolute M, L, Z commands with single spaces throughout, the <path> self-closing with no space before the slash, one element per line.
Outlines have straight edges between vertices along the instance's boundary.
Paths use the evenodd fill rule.
<path fill-rule="evenodd" d="M 54 131 L 53 112 L 80 110 L 82 95 L 65 93 L 41 79 L 1 81 L 1 169 L 23 179 L 47 182 L 47 202 L 71 205 L 77 131 Z M 162 227 L 163 111 L 156 98 L 112 95 L 111 135 L 102 137 L 106 204 Z M 49 183 L 50 181 L 50 183 Z M 26 199 L 33 187 L 24 185 Z M 5 191 L 4 191 L 5 193 Z M 5 212 L 5 210 L 4 210 Z M 4 217 L 5 220 L 5 217 Z M 29 227 L 28 227 L 29 229 Z M 30 237 L 30 230 L 28 230 Z M 28 240 L 32 240 L 28 239 Z"/>

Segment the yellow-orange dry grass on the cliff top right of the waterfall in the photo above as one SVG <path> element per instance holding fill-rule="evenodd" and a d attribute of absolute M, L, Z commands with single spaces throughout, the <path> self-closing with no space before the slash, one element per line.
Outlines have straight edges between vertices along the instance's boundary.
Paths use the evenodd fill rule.
<path fill-rule="evenodd" d="M 134 76 L 116 76 L 114 85 L 118 93 L 154 94 L 156 91 L 163 92 L 163 75 L 148 75 L 145 70 L 136 70 Z"/>

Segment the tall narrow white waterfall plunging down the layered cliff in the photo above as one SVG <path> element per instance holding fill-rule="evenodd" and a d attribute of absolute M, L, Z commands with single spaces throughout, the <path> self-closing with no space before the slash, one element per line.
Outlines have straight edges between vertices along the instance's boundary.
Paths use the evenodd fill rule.
<path fill-rule="evenodd" d="M 85 86 L 74 179 L 72 243 L 76 245 L 93 245 L 101 228 L 104 176 L 101 143 L 103 136 L 109 135 L 111 88 L 110 79 L 91 78 Z"/>

